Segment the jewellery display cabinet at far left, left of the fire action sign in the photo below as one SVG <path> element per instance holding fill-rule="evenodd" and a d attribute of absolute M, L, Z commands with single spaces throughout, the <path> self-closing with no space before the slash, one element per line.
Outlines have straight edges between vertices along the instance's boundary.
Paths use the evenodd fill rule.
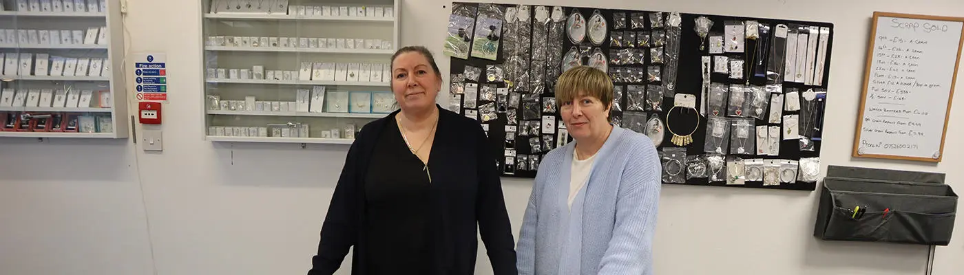
<path fill-rule="evenodd" d="M 0 137 L 125 138 L 117 0 L 0 0 Z"/>

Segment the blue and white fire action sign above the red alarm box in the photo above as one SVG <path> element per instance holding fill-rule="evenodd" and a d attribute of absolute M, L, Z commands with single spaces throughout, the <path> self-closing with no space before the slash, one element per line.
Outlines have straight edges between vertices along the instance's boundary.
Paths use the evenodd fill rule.
<path fill-rule="evenodd" d="M 134 55 L 134 87 L 138 101 L 168 101 L 168 63 L 163 53 Z"/>

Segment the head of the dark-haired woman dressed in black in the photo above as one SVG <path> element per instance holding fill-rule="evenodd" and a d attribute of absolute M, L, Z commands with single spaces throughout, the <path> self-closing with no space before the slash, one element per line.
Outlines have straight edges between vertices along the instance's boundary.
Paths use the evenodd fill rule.
<path fill-rule="evenodd" d="M 391 91 L 403 110 L 435 106 L 442 79 L 421 53 L 408 52 L 395 57 L 391 68 Z"/>

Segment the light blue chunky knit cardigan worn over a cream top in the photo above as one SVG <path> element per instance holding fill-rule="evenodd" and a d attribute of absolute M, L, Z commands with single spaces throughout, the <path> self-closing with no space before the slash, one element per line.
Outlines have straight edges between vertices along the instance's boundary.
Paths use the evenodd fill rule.
<path fill-rule="evenodd" d="M 653 274 L 661 166 L 649 137 L 614 127 L 569 210 L 576 142 L 539 165 L 516 248 L 519 274 Z"/>

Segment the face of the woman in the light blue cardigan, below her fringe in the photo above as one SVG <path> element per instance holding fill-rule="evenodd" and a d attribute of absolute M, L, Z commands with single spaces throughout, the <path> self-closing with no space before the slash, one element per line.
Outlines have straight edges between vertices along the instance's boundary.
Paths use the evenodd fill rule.
<path fill-rule="evenodd" d="M 605 138 L 609 131 L 609 107 L 599 98 L 580 92 L 572 102 L 560 102 L 562 122 L 569 135 L 578 140 Z"/>

